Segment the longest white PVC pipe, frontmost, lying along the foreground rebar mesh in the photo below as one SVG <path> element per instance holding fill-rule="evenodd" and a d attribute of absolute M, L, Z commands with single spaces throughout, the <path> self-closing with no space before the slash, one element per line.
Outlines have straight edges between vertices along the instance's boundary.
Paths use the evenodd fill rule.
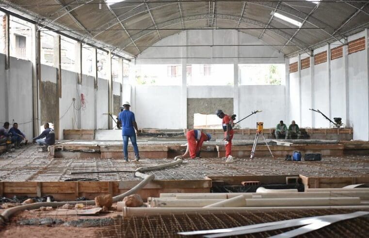
<path fill-rule="evenodd" d="M 240 208 L 130 208 L 124 207 L 123 216 L 145 216 L 157 214 L 216 213 L 246 210 L 293 210 L 293 209 L 369 209 L 369 206 L 306 206 L 306 207 L 240 207 Z"/>

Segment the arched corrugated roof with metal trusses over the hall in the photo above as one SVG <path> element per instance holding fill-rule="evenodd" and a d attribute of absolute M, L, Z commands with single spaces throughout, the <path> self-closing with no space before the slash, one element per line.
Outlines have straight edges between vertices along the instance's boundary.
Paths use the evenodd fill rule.
<path fill-rule="evenodd" d="M 288 55 L 306 46 L 318 47 L 319 43 L 324 44 L 329 40 L 334 41 L 335 38 L 340 39 L 341 35 L 345 36 L 346 31 L 353 30 L 363 24 L 369 26 L 369 4 L 364 6 L 365 1 L 324 2 L 322 0 L 314 11 L 312 10 L 315 4 L 306 0 L 293 2 L 278 0 L 265 2 L 157 1 L 147 0 L 145 3 L 143 0 L 126 0 L 111 5 L 111 9 L 103 3 L 103 0 L 8 0 L 4 2 L 16 4 L 18 9 L 24 10 L 28 14 L 35 13 L 49 20 L 54 20 L 55 23 L 69 30 L 90 30 L 90 32 L 80 31 L 80 34 L 104 42 L 107 47 L 132 46 L 132 41 L 136 45 L 152 45 L 160 41 L 160 38 L 179 32 L 182 26 L 185 29 L 259 28 L 241 30 L 256 37 L 261 35 L 262 28 L 268 27 L 273 29 L 265 30 L 261 35 L 261 40 L 267 44 L 275 45 L 286 44 L 292 38 L 291 43 L 282 49 L 282 52 Z M 100 2 L 102 2 L 101 5 Z M 244 11 L 243 6 L 245 6 Z M 278 9 L 276 9 L 277 6 Z M 275 29 L 293 27 L 283 20 L 275 19 L 275 17 L 270 20 L 271 13 L 275 9 L 280 14 L 304 22 L 303 28 L 321 29 L 302 29 L 297 33 L 295 29 Z M 351 17 L 353 15 L 354 17 Z M 347 22 L 348 19 L 351 20 Z M 42 19 L 40 22 L 42 23 Z M 346 24 L 342 26 L 345 22 Z M 158 31 L 155 30 L 155 25 L 159 29 L 160 37 Z M 179 30 L 160 30 L 164 28 Z M 96 29 L 104 31 L 96 31 Z M 339 30 L 333 35 L 337 29 Z M 293 46 L 294 44 L 299 47 Z M 278 50 L 282 48 L 273 47 Z M 313 47 L 308 48 L 312 49 Z M 145 48 L 140 47 L 140 51 Z M 126 48 L 125 51 L 133 55 L 139 54 L 135 47 Z"/>

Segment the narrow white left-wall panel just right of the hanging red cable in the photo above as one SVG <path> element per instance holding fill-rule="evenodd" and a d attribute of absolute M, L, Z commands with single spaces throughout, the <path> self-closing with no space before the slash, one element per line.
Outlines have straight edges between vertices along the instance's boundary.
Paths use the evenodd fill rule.
<path fill-rule="evenodd" d="M 108 129 L 108 116 L 102 115 L 108 113 L 108 80 L 97 79 L 96 93 L 96 129 Z"/>

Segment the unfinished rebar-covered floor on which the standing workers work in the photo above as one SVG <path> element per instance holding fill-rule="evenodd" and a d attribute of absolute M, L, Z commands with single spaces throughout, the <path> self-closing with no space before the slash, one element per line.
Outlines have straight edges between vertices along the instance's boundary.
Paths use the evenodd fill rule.
<path fill-rule="evenodd" d="M 145 159 L 124 162 L 122 159 L 51 158 L 29 145 L 0 155 L 0 181 L 64 181 L 70 178 L 97 178 L 100 181 L 140 180 L 133 171 L 142 166 L 163 164 L 172 159 Z M 71 172 L 129 170 L 124 173 L 77 174 Z M 151 173 L 151 172 L 148 172 Z M 204 179 L 205 176 L 305 175 L 308 177 L 361 177 L 369 174 L 369 156 L 323 157 L 322 161 L 291 162 L 284 158 L 240 159 L 225 164 L 224 159 L 186 160 L 179 166 L 152 172 L 156 179 Z"/>

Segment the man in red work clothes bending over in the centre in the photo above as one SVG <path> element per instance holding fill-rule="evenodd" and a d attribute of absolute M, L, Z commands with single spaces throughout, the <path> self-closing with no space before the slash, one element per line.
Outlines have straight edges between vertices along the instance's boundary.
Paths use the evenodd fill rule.
<path fill-rule="evenodd" d="M 201 146 L 204 141 L 209 141 L 211 139 L 210 134 L 205 134 L 200 130 L 191 130 L 186 134 L 187 138 L 187 149 L 186 152 L 181 157 L 186 157 L 190 155 L 191 159 L 200 157 Z"/>

